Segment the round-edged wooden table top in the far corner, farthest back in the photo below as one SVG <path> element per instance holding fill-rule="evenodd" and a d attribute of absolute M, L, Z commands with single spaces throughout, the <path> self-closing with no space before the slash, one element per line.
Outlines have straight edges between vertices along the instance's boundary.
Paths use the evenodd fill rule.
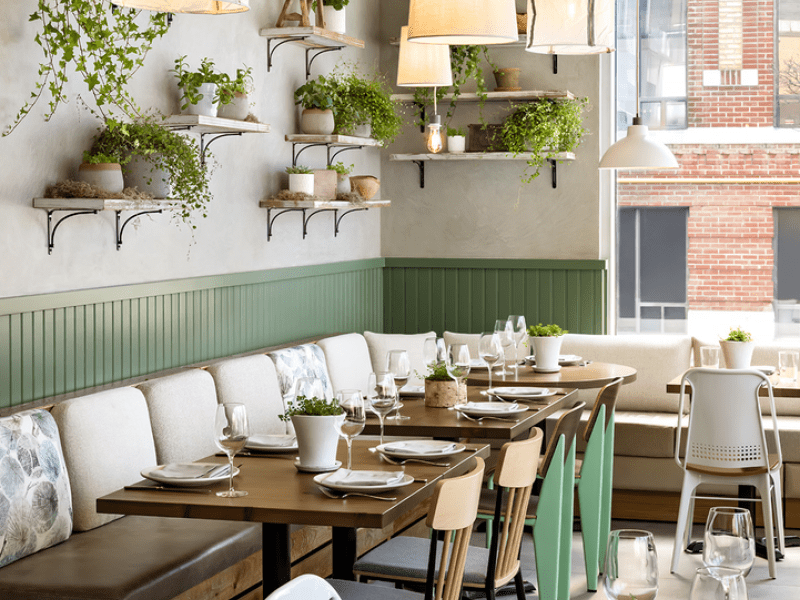
<path fill-rule="evenodd" d="M 514 381 L 513 375 L 507 375 L 506 380 L 499 375 L 492 375 L 494 386 L 541 386 L 564 387 L 575 389 L 601 388 L 622 377 L 622 383 L 636 381 L 636 369 L 625 365 L 611 363 L 591 362 L 585 367 L 561 367 L 557 373 L 536 373 L 533 367 L 519 366 L 519 381 Z M 469 385 L 489 385 L 489 372 L 486 369 L 473 369 L 467 377 Z"/>

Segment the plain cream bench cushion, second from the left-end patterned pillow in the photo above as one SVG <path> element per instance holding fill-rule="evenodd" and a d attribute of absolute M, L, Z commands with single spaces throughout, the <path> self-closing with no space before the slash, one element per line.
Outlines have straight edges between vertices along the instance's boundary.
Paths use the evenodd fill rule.
<path fill-rule="evenodd" d="M 203 369 L 186 369 L 138 386 L 147 400 L 159 464 L 192 462 L 217 452 L 217 391 Z"/>

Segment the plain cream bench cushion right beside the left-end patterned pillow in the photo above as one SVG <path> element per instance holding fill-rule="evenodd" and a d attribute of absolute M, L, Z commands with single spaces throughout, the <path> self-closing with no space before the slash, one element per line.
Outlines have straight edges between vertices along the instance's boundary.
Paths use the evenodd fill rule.
<path fill-rule="evenodd" d="M 142 392 L 117 388 L 53 407 L 72 487 L 73 529 L 88 531 L 122 515 L 99 514 L 97 499 L 139 481 L 156 464 Z"/>

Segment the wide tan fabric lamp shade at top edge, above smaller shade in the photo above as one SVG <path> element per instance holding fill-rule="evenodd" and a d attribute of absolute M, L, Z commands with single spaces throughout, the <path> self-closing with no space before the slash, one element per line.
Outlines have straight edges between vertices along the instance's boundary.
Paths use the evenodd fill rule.
<path fill-rule="evenodd" d="M 516 42 L 514 0 L 411 0 L 408 40 L 422 44 Z"/>

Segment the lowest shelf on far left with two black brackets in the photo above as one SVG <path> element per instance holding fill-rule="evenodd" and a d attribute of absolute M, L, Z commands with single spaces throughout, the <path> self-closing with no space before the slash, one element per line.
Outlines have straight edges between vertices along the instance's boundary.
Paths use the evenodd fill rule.
<path fill-rule="evenodd" d="M 141 215 L 161 213 L 165 210 L 179 209 L 181 203 L 177 200 L 156 198 L 153 200 L 129 200 L 127 198 L 34 198 L 33 207 L 47 211 L 47 253 L 52 254 L 55 247 L 56 231 L 58 226 L 71 217 L 78 215 L 96 215 L 101 210 L 113 210 L 116 213 L 117 250 L 122 247 L 122 234 L 125 226 L 132 219 Z M 63 211 L 64 215 L 55 225 L 53 213 Z M 121 222 L 120 213 L 135 211 L 130 217 Z"/>

